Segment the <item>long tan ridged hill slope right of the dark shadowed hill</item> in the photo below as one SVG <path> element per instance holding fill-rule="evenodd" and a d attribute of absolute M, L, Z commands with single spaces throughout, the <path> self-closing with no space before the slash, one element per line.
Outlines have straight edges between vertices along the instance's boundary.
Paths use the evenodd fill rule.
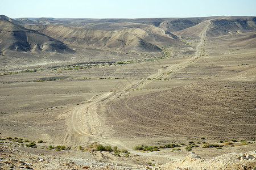
<path fill-rule="evenodd" d="M 48 36 L 72 46 L 118 49 L 137 52 L 160 52 L 159 46 L 182 44 L 174 35 L 166 35 L 162 29 L 148 26 L 126 28 L 116 31 L 101 31 L 60 25 L 30 25 Z M 173 37 L 174 36 L 174 37 Z"/>

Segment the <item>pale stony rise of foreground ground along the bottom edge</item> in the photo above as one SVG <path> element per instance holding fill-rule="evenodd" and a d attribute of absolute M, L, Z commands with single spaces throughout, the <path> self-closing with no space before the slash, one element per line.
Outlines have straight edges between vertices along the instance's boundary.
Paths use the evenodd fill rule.
<path fill-rule="evenodd" d="M 129 167 L 85 158 L 35 155 L 1 145 L 0 154 L 0 169 L 256 169 L 256 150 L 224 154 L 213 159 L 203 159 L 195 152 L 189 152 L 184 159 L 155 167 L 143 165 Z"/>

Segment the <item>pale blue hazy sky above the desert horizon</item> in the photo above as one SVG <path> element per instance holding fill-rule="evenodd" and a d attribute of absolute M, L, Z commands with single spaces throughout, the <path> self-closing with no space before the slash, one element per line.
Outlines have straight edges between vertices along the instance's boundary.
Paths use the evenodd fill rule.
<path fill-rule="evenodd" d="M 256 16 L 255 0 L 0 0 L 10 18 L 173 18 Z"/>

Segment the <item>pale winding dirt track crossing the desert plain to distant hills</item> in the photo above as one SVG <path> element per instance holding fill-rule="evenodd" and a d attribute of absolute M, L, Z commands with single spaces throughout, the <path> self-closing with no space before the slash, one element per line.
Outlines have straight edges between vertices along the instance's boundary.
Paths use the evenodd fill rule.
<path fill-rule="evenodd" d="M 178 67 L 185 66 L 189 62 L 195 61 L 197 57 L 201 57 L 204 52 L 205 36 L 207 35 L 210 20 L 206 22 L 207 24 L 201 33 L 201 41 L 196 47 L 194 57 L 188 58 L 187 61 L 183 63 L 168 66 L 166 69 L 158 69 L 157 73 L 152 74 L 147 78 L 161 78 L 164 73 L 175 71 Z M 138 80 L 132 84 L 127 84 L 127 86 L 123 87 L 118 92 L 105 92 L 104 94 L 94 96 L 85 104 L 82 104 L 71 111 L 70 117 L 68 118 L 67 134 L 64 137 L 63 143 L 65 143 L 67 146 L 71 146 L 72 148 L 77 148 L 78 146 L 93 140 L 100 143 L 106 143 L 107 145 L 115 145 L 121 148 L 126 148 L 122 145 L 122 143 L 108 141 L 102 137 L 101 134 L 104 132 L 104 128 L 101 125 L 97 108 L 99 105 L 104 105 L 106 102 L 116 99 L 117 96 L 129 93 L 127 89 L 133 90 L 135 88 L 142 88 L 146 84 L 150 83 L 150 80 L 147 80 L 147 78 Z M 141 152 L 132 151 L 130 148 L 127 149 L 135 154 L 142 154 Z M 143 153 L 143 155 L 145 155 L 145 153 Z"/>

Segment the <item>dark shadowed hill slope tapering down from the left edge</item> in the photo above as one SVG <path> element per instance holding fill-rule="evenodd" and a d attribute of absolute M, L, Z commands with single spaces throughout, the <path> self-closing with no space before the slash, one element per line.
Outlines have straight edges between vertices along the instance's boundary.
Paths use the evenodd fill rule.
<path fill-rule="evenodd" d="M 63 42 L 57 41 L 7 20 L 0 20 L 0 49 L 2 52 L 57 52 L 72 53 Z"/>

